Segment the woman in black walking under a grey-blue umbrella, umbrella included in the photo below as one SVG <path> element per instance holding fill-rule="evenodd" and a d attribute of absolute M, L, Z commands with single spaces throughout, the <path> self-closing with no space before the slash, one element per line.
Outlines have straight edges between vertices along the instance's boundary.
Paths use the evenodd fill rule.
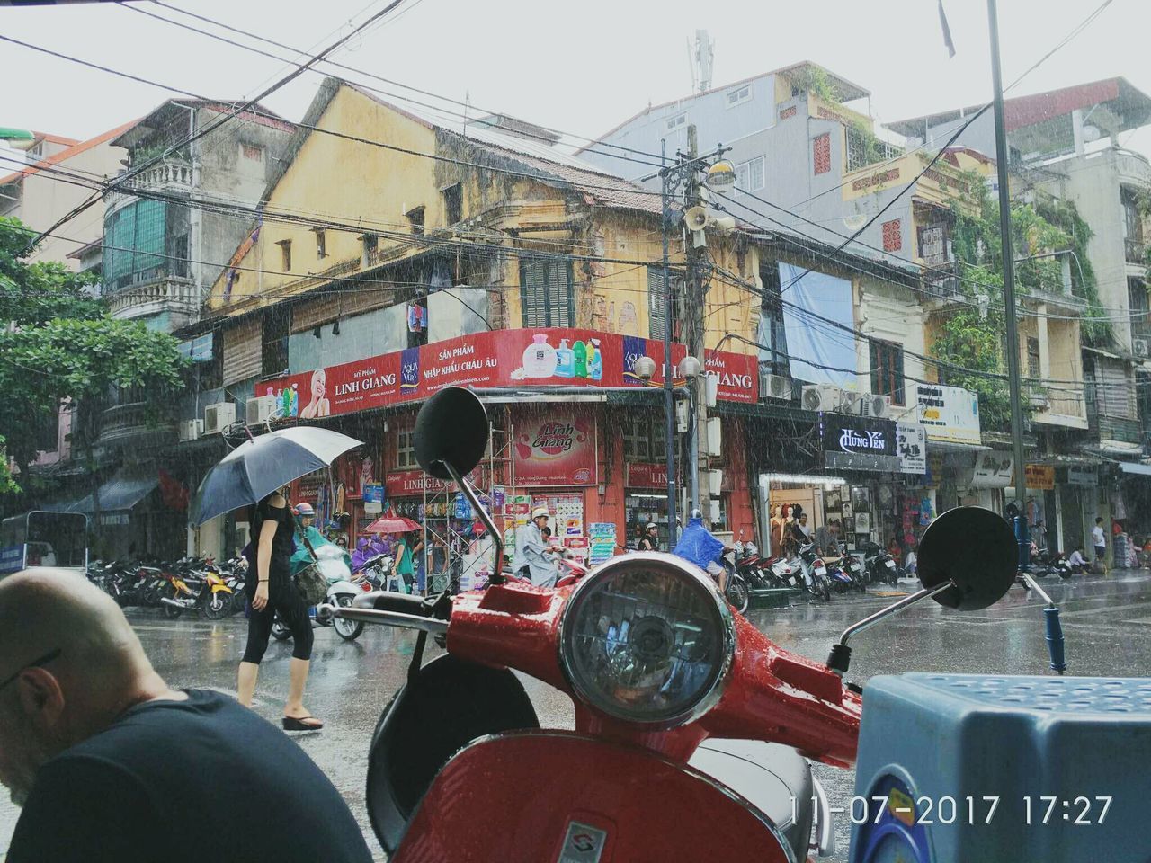
<path fill-rule="evenodd" d="M 268 647 L 272 624 L 280 619 L 291 629 L 285 731 L 317 731 L 323 723 L 304 707 L 304 686 L 312 658 L 312 621 L 304 597 L 291 579 L 292 534 L 296 525 L 288 505 L 287 486 L 304 474 L 328 467 L 338 456 L 361 444 L 353 437 L 321 428 L 285 428 L 251 438 L 224 456 L 204 478 L 196 492 L 195 522 L 241 507 L 253 507 L 249 519 L 247 643 L 239 663 L 237 700 L 251 707 L 260 660 Z"/>

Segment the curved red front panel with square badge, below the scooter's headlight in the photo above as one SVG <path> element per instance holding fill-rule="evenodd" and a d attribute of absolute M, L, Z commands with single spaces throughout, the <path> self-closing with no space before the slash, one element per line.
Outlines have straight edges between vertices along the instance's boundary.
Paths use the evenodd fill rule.
<path fill-rule="evenodd" d="M 795 863 L 771 820 L 707 774 L 567 732 L 475 741 L 440 771 L 392 863 Z"/>

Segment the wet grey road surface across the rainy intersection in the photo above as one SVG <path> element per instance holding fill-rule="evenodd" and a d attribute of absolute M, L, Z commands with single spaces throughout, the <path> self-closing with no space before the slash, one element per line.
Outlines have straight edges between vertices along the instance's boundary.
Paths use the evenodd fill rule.
<path fill-rule="evenodd" d="M 1149 675 L 1151 659 L 1151 575 L 1115 573 L 1042 583 L 1064 610 L 1069 673 L 1084 675 Z M 782 647 L 824 659 L 828 648 L 851 623 L 892 602 L 876 596 L 836 597 L 830 605 L 801 604 L 785 610 L 753 612 L 753 623 Z M 861 634 L 853 641 L 851 679 L 907 671 L 1047 673 L 1043 603 L 1013 588 L 996 606 L 981 612 L 945 611 L 920 604 L 902 617 Z M 131 611 L 130 618 L 153 663 L 177 687 L 215 688 L 235 693 L 236 663 L 243 651 L 245 621 L 197 619 L 168 621 L 155 611 Z M 345 643 L 330 628 L 317 632 L 306 704 L 328 725 L 320 733 L 295 738 L 335 782 L 364 827 L 369 846 L 381 854 L 364 805 L 366 748 L 383 704 L 403 682 L 414 634 L 368 627 L 359 641 Z M 432 654 L 437 652 L 432 648 Z M 256 709 L 279 723 L 288 689 L 291 646 L 273 642 L 264 660 Z M 571 702 L 563 694 L 525 681 L 547 727 L 572 727 Z M 846 805 L 853 794 L 851 771 L 817 767 L 831 805 Z M 0 801 L 0 853 L 7 848 L 17 810 Z M 837 822 L 839 853 L 846 860 L 851 825 Z"/>

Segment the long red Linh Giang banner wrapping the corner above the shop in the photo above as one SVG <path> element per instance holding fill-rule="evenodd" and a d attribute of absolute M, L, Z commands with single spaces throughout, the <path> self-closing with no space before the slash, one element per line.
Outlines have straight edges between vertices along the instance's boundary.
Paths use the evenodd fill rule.
<path fill-rule="evenodd" d="M 672 345 L 671 361 L 684 345 Z M 641 357 L 655 360 L 649 382 L 635 374 Z M 663 342 L 581 329 L 510 329 L 477 333 L 395 353 L 302 372 L 260 383 L 285 415 L 313 419 L 427 398 L 444 387 L 645 387 L 663 383 Z M 719 376 L 719 398 L 754 402 L 754 356 L 714 352 L 708 371 Z"/>

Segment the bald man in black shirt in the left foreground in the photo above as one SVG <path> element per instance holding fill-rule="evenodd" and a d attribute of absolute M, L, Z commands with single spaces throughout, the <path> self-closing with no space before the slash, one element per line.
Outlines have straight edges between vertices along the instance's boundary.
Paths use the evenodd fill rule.
<path fill-rule="evenodd" d="M 233 698 L 174 690 L 82 576 L 0 581 L 7 863 L 367 863 L 340 793 Z"/>

